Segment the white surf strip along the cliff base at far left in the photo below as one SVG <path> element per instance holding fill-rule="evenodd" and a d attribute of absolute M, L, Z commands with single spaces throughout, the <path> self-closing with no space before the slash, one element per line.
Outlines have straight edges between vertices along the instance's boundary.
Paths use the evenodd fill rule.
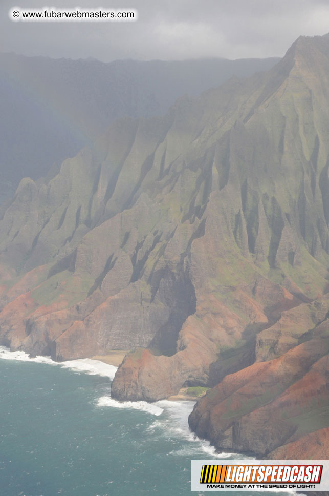
<path fill-rule="evenodd" d="M 36 362 L 36 363 L 47 363 L 48 365 L 57 365 L 63 368 L 71 368 L 76 372 L 84 372 L 90 375 L 99 375 L 103 377 L 114 378 L 116 370 L 118 367 L 114 365 L 108 365 L 99 360 L 91 360 L 90 358 L 84 358 L 81 360 L 68 360 L 66 362 L 54 362 L 50 357 L 36 356 L 35 358 L 30 358 L 25 352 L 17 351 L 11 352 L 6 346 L 0 346 L 0 358 L 4 360 L 19 360 L 21 362 Z"/>

